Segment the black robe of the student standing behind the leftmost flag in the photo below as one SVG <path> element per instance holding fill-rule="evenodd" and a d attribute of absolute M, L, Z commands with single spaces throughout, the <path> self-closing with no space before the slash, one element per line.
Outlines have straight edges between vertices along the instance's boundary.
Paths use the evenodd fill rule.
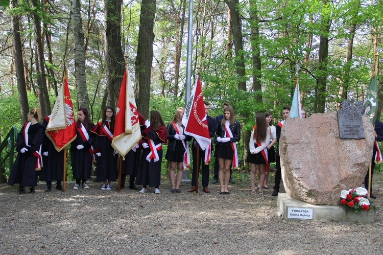
<path fill-rule="evenodd" d="M 39 172 L 40 181 L 52 181 L 52 180 L 63 180 L 64 175 L 64 150 L 58 152 L 55 149 L 52 141 L 45 134 L 46 126 L 48 125 L 49 118 L 45 117 L 42 121 L 44 127 L 44 136 L 42 140 L 42 152 L 48 152 L 48 156 L 42 156 L 44 163 L 43 168 Z"/>

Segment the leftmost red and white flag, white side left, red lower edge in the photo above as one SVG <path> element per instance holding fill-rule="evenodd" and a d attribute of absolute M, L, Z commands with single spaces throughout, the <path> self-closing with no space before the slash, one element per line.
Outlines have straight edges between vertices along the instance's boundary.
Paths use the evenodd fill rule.
<path fill-rule="evenodd" d="M 69 94 L 67 72 L 65 72 L 64 84 L 61 86 L 53 106 L 45 134 L 50 138 L 57 151 L 63 150 L 76 139 L 75 117 Z"/>

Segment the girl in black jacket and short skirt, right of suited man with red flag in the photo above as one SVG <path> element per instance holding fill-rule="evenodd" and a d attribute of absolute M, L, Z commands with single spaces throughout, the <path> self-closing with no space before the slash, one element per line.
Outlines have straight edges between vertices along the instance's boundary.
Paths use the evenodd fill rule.
<path fill-rule="evenodd" d="M 234 110 L 231 105 L 225 106 L 224 118 L 219 123 L 216 141 L 216 157 L 219 164 L 220 194 L 230 194 L 227 189 L 230 180 L 230 166 L 238 168 L 238 153 L 236 142 L 241 140 L 241 126 L 234 118 Z"/>

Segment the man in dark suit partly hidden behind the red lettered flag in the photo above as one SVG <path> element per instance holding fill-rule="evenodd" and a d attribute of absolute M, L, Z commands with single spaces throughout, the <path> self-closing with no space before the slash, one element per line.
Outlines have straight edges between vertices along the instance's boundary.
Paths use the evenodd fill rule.
<path fill-rule="evenodd" d="M 205 113 L 206 113 L 206 119 L 207 119 L 207 126 L 209 128 L 209 136 L 210 138 L 213 137 L 216 134 L 216 125 L 214 124 L 214 119 L 211 118 L 209 115 L 209 103 L 204 101 L 205 106 Z M 205 153 L 208 152 L 208 148 L 206 150 L 202 150 L 201 147 L 199 147 L 199 157 L 197 158 L 197 141 L 194 139 L 193 145 L 192 145 L 192 153 L 193 153 L 193 172 L 192 172 L 192 189 L 189 190 L 189 192 L 195 192 L 197 190 L 196 183 L 197 183 L 197 163 L 199 163 L 199 167 L 202 166 L 202 187 L 203 192 L 210 193 L 207 186 L 209 185 L 209 164 L 205 165 Z M 212 151 L 212 146 L 210 153 Z"/>

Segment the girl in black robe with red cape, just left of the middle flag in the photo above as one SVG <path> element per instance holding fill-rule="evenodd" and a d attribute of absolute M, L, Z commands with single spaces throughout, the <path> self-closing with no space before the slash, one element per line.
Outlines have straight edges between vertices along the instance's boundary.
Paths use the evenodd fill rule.
<path fill-rule="evenodd" d="M 95 134 L 93 153 L 97 155 L 97 181 L 104 182 L 101 190 L 111 190 L 111 182 L 117 180 L 117 154 L 112 147 L 115 111 L 106 106 L 103 119 L 90 131 Z"/>

